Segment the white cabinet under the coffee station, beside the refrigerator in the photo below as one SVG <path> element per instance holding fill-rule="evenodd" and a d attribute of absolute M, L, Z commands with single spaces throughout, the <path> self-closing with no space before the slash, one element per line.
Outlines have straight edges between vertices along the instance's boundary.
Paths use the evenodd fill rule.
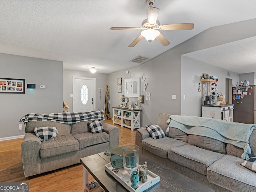
<path fill-rule="evenodd" d="M 233 122 L 234 105 L 202 106 L 202 117 Z"/>

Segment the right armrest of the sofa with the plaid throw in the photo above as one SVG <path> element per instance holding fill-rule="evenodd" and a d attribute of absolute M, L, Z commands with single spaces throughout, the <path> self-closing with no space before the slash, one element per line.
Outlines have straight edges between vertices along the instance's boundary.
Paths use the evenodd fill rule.
<path fill-rule="evenodd" d="M 102 126 L 105 132 L 109 135 L 109 148 L 110 149 L 118 148 L 119 128 L 107 123 L 103 123 Z"/>

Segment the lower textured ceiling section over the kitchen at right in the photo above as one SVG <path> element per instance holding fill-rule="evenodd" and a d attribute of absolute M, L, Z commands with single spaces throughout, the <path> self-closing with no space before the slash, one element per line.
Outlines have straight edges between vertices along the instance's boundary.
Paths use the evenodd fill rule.
<path fill-rule="evenodd" d="M 238 74 L 256 72 L 256 37 L 184 54 L 184 56 Z"/>

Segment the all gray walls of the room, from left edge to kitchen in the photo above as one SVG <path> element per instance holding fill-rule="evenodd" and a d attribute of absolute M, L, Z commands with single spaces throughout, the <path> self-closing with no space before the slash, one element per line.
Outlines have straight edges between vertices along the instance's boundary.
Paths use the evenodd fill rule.
<path fill-rule="evenodd" d="M 134 74 L 134 76 L 126 74 L 126 70 L 110 74 L 63 70 L 62 62 L 0 54 L 0 77 L 26 79 L 26 83 L 35 83 L 37 86 L 34 92 L 26 90 L 26 94 L 0 94 L 2 101 L 0 104 L 0 120 L 2 122 L 0 138 L 24 134 L 24 131 L 18 131 L 18 124 L 20 124 L 18 121 L 25 114 L 62 112 L 63 98 L 72 109 L 72 98 L 70 98 L 72 76 L 96 77 L 96 108 L 104 108 L 105 99 L 103 97 L 107 83 L 110 86 L 110 107 L 117 106 L 121 103 L 119 97 L 123 94 L 117 92 L 117 78 L 122 77 L 124 82 L 126 78 L 135 78 L 146 74 L 146 80 L 141 82 L 140 94 L 145 96 L 146 92 L 150 92 L 151 100 L 145 100 L 145 103 L 141 105 L 142 126 L 156 124 L 160 112 L 182 114 L 185 110 L 192 110 L 188 104 L 184 103 L 187 102 L 189 96 L 189 92 L 186 90 L 189 86 L 192 86 L 193 90 L 197 90 L 196 84 L 199 82 L 197 82 L 196 76 L 210 71 L 210 69 L 191 72 L 191 81 L 193 82 L 188 86 L 184 83 L 183 78 L 185 77 L 182 74 L 184 72 L 182 55 L 255 36 L 256 28 L 254 26 L 256 26 L 256 19 L 205 30 L 138 67 L 128 68 L 129 74 Z M 137 55 L 139 54 L 140 52 Z M 202 64 L 202 68 L 204 68 L 204 64 Z M 188 73 L 188 71 L 186 72 Z M 215 76 L 221 77 L 222 75 L 215 74 Z M 234 76 L 234 78 L 236 77 Z M 224 80 L 220 80 L 220 82 L 225 84 Z M 142 91 L 143 83 L 148 83 L 146 92 Z M 46 89 L 39 89 L 40 85 L 46 85 Z M 122 85 L 124 86 L 124 83 Z M 99 100 L 100 90 L 97 89 L 98 87 L 102 88 L 101 100 Z M 185 101 L 181 100 L 184 94 L 186 95 Z M 176 95 L 176 100 L 172 100 L 172 95 Z M 137 99 L 131 98 L 133 104 Z M 197 104 L 196 106 L 198 108 Z M 197 109 L 195 114 L 198 114 L 198 111 Z M 112 115 L 112 110 L 110 112 Z"/>

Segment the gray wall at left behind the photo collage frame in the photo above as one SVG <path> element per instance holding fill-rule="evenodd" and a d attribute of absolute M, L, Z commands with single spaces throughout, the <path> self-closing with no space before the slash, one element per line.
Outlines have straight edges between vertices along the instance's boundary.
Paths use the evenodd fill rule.
<path fill-rule="evenodd" d="M 25 94 L 0 93 L 0 140 L 24 135 L 25 126 L 19 120 L 26 114 L 62 112 L 63 62 L 0 53 L 0 77 L 36 84 L 36 89 L 25 89 Z M 18 124 L 23 124 L 21 131 Z"/>

